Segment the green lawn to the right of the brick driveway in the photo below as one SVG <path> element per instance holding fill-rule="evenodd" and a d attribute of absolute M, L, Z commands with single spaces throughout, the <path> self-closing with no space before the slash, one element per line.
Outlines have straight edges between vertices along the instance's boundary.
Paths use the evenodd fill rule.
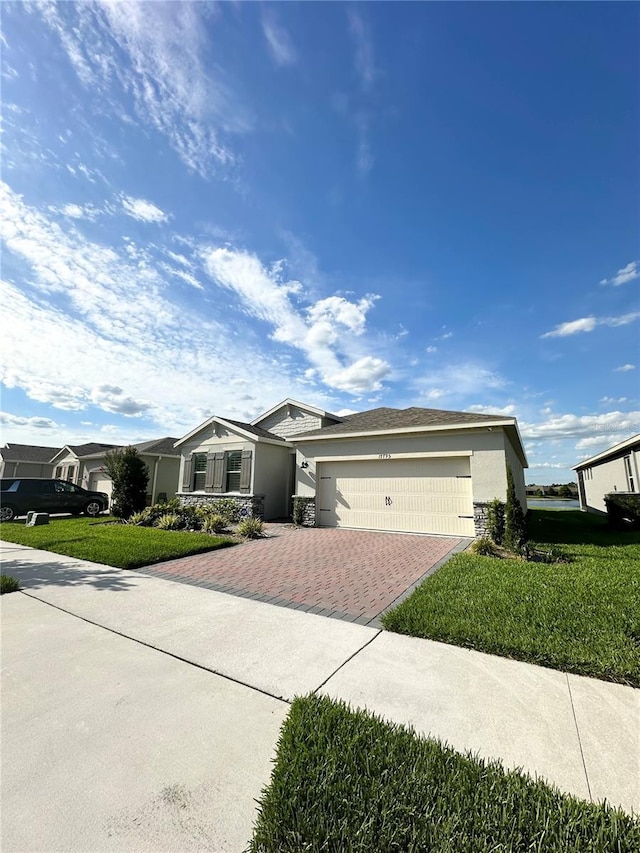
<path fill-rule="evenodd" d="M 573 562 L 458 554 L 384 627 L 640 687 L 640 534 L 553 510 L 532 510 L 529 530 Z"/>

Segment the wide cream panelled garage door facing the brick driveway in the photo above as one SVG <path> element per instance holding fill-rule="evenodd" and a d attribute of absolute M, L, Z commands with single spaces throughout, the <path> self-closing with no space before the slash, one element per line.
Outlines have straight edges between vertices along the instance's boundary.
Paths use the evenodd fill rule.
<path fill-rule="evenodd" d="M 475 536 L 469 457 L 322 462 L 318 523 Z"/>

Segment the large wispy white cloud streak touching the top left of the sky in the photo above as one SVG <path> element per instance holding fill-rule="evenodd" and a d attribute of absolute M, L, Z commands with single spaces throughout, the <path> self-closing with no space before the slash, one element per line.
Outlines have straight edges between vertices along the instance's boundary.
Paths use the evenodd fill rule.
<path fill-rule="evenodd" d="M 246 132 L 250 120 L 229 80 L 205 56 L 203 18 L 211 19 L 205 4 L 129 0 L 37 8 L 101 109 L 155 128 L 202 176 L 233 162 L 221 137 Z"/>

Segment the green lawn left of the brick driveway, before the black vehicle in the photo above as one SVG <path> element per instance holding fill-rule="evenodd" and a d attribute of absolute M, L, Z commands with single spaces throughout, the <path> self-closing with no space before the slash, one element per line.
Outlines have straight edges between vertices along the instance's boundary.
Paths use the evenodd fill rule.
<path fill-rule="evenodd" d="M 104 519 L 92 518 L 54 520 L 41 527 L 5 521 L 0 524 L 0 539 L 119 569 L 136 569 L 235 544 L 224 536 L 105 524 Z"/>

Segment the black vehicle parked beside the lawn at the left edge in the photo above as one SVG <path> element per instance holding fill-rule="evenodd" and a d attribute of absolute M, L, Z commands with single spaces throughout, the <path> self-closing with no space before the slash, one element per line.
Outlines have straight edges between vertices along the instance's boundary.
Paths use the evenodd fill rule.
<path fill-rule="evenodd" d="M 89 492 L 66 480 L 3 477 L 0 487 L 0 521 L 11 521 L 31 510 L 96 516 L 109 508 L 109 495 Z"/>

